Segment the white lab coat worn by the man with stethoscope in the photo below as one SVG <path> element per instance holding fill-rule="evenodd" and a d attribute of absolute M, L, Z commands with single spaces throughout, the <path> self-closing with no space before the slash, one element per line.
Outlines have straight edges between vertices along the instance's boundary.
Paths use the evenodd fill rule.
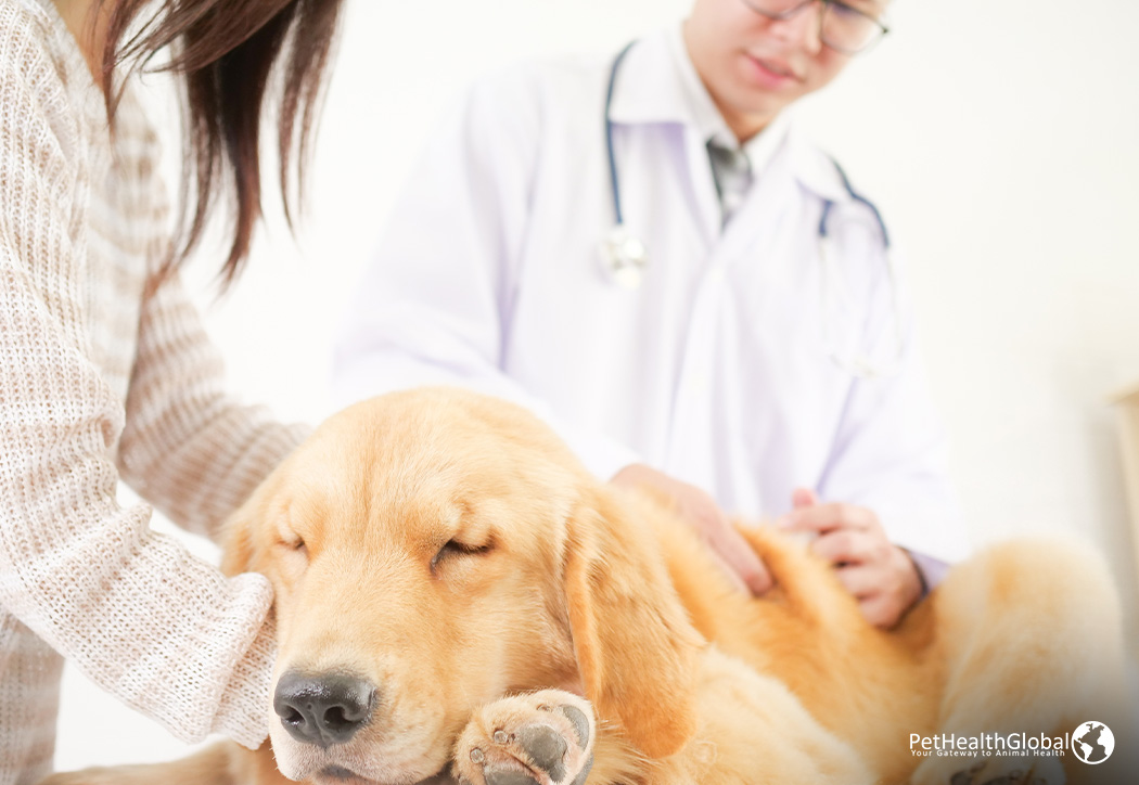
<path fill-rule="evenodd" d="M 909 321 L 885 380 L 852 378 L 822 338 L 829 199 L 851 295 L 834 342 L 893 354 L 877 223 L 792 129 L 722 229 L 675 41 L 630 50 L 611 109 L 625 223 L 648 247 L 641 287 L 614 284 L 598 251 L 614 222 L 612 58 L 527 64 L 477 83 L 427 146 L 355 296 L 335 386 L 345 402 L 472 386 L 547 418 L 603 478 L 644 462 L 755 519 L 814 488 L 874 509 L 903 547 L 960 557 Z"/>

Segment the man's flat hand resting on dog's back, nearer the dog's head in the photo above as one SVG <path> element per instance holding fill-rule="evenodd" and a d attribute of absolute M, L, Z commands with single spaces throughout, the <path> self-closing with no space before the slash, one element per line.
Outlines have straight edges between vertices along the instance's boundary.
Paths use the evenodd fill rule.
<path fill-rule="evenodd" d="M 641 463 L 625 466 L 613 476 L 611 482 L 625 488 L 649 487 L 663 493 L 677 505 L 681 518 L 708 544 L 712 556 L 737 588 L 756 595 L 771 588 L 768 568 L 705 491 Z"/>

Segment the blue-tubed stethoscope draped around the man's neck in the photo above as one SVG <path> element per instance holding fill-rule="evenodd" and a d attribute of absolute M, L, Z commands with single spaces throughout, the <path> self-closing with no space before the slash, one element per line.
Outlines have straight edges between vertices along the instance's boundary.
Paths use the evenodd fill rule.
<path fill-rule="evenodd" d="M 613 119 L 609 117 L 609 109 L 613 106 L 613 88 L 617 81 L 617 72 L 621 69 L 621 61 L 632 48 L 636 41 L 630 42 L 622 49 L 613 60 L 609 68 L 609 83 L 605 93 L 605 149 L 609 164 L 609 191 L 613 195 L 613 213 L 616 222 L 601 239 L 600 253 L 601 262 L 611 280 L 625 289 L 638 289 L 645 280 L 648 268 L 648 249 L 645 242 L 636 232 L 629 229 L 624 222 L 624 214 L 621 209 L 621 182 L 617 176 L 617 162 L 613 151 Z M 855 350 L 844 353 L 837 345 L 833 314 L 842 307 L 842 301 L 847 297 L 847 292 L 842 287 L 842 275 L 839 274 L 836 259 L 837 254 L 833 253 L 834 238 L 828 231 L 828 221 L 835 203 L 825 199 L 822 203 L 822 215 L 819 218 L 819 258 L 822 262 L 822 338 L 828 347 L 830 360 L 843 371 L 859 379 L 877 379 L 890 377 L 901 369 L 902 356 L 904 354 L 904 327 L 902 324 L 901 303 L 898 297 L 898 276 L 893 262 L 893 254 L 890 242 L 890 232 L 886 231 L 886 222 L 874 204 L 858 193 L 846 177 L 846 173 L 837 162 L 831 160 L 843 188 L 850 195 L 851 200 L 865 206 L 874 215 L 882 236 L 883 258 L 886 265 L 886 286 L 890 288 L 890 301 L 893 316 L 891 325 L 891 344 L 893 346 L 888 358 L 885 362 L 872 360 L 867 353 Z"/>

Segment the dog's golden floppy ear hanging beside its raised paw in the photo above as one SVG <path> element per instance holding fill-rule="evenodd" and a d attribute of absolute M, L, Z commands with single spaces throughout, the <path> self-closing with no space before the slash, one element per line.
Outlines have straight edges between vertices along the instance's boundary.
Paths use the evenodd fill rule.
<path fill-rule="evenodd" d="M 565 582 L 585 696 L 638 750 L 665 758 L 696 733 L 704 641 L 655 543 L 645 522 L 598 488 L 568 522 Z"/>

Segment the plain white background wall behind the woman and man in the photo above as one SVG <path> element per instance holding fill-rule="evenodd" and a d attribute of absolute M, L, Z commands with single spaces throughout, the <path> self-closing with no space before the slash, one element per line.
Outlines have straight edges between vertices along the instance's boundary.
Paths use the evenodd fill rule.
<path fill-rule="evenodd" d="M 232 388 L 288 420 L 329 413 L 344 303 L 423 134 L 473 76 L 613 50 L 687 7 L 349 0 L 300 250 L 276 224 L 216 305 L 216 261 L 190 272 Z M 892 16 L 802 113 L 909 250 L 972 534 L 1081 532 L 1133 606 L 1106 396 L 1139 381 L 1139 3 L 898 0 Z M 73 671 L 65 691 L 60 768 L 185 751 Z"/>

